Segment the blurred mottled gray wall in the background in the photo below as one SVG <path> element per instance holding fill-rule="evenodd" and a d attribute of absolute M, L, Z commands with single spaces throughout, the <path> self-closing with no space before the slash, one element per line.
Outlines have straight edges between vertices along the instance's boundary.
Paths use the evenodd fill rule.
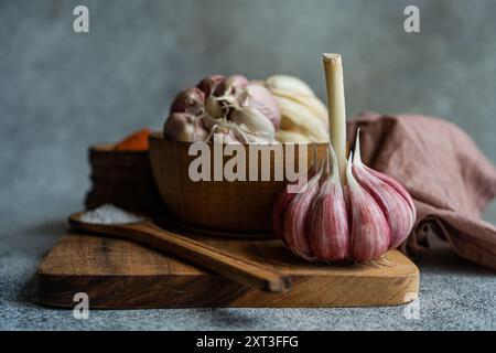
<path fill-rule="evenodd" d="M 79 3 L 89 34 L 72 30 Z M 407 4 L 419 34 L 402 30 Z M 349 115 L 440 116 L 496 161 L 495 14 L 493 0 L 0 0 L 2 222 L 77 210 L 86 147 L 161 128 L 173 94 L 209 73 L 293 74 L 323 96 L 326 51 L 344 56 Z"/>

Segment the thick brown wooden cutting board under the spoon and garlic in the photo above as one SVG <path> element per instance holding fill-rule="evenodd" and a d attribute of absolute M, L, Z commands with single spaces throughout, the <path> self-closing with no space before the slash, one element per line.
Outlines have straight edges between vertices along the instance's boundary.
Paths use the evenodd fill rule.
<path fill-rule="evenodd" d="M 290 291 L 263 292 L 128 240 L 69 233 L 37 268 L 39 300 L 74 307 L 74 295 L 86 292 L 90 308 L 370 307 L 405 303 L 419 291 L 419 269 L 398 250 L 386 254 L 389 266 L 315 265 L 277 239 L 195 238 L 281 270 Z"/>

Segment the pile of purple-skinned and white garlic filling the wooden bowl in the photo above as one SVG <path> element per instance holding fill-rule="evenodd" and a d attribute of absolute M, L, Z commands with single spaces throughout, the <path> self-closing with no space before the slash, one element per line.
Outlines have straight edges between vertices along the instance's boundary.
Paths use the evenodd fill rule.
<path fill-rule="evenodd" d="M 322 106 L 312 89 L 296 77 L 279 75 L 260 82 L 242 75 L 211 75 L 175 96 L 164 136 L 181 141 L 209 141 L 214 130 L 222 128 L 223 133 L 228 131 L 231 136 L 223 141 L 327 141 Z M 172 116 L 176 113 L 188 116 Z M 192 117 L 196 117 L 195 124 Z"/>

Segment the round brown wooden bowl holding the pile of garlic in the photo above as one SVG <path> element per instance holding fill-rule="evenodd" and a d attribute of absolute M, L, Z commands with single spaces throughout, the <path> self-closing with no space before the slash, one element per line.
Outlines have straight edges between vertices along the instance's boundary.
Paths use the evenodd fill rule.
<path fill-rule="evenodd" d="M 303 143 L 302 143 L 303 145 Z M 169 211 L 180 222 L 197 228 L 246 234 L 272 233 L 272 207 L 285 181 L 197 181 L 188 176 L 191 142 L 171 141 L 161 133 L 150 136 L 150 159 L 159 192 Z M 295 161 L 301 145 L 295 145 Z M 314 149 L 308 147 L 308 165 L 313 163 Z M 317 143 L 319 159 L 327 143 Z M 211 145 L 212 148 L 212 145 Z M 283 149 L 285 153 L 285 148 Z M 247 153 L 248 154 L 248 153 Z M 225 164 L 231 157 L 225 157 Z M 274 164 L 284 159 L 270 158 L 271 175 Z M 224 165 L 223 164 L 223 165 Z M 247 173 L 249 156 L 247 156 Z M 296 164 L 298 165 L 298 164 Z M 213 168 L 212 168 L 213 169 Z M 271 176 L 270 180 L 273 180 Z"/>

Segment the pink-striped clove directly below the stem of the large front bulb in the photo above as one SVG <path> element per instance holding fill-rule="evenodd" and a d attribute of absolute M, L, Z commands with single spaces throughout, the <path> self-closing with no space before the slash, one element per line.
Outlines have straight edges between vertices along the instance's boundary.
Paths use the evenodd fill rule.
<path fill-rule="evenodd" d="M 309 242 L 321 260 L 339 261 L 349 256 L 349 227 L 346 202 L 337 171 L 336 154 L 330 146 L 332 172 L 312 202 Z"/>

